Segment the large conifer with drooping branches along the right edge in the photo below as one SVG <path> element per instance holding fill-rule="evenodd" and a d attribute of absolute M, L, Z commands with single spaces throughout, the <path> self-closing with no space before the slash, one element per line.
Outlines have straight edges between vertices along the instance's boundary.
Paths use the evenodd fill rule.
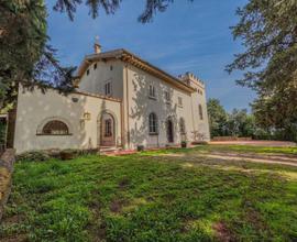
<path fill-rule="evenodd" d="M 227 67 L 245 70 L 238 80 L 254 88 L 256 122 L 272 135 L 297 140 L 297 1 L 250 0 L 232 28 L 246 51 Z"/>

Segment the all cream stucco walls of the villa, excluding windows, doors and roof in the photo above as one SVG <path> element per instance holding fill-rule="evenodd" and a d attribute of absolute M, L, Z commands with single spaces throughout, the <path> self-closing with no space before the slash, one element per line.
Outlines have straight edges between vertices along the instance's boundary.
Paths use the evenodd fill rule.
<path fill-rule="evenodd" d="M 136 148 L 140 144 L 146 147 L 167 145 L 168 118 L 174 123 L 172 144 L 179 144 L 184 139 L 191 142 L 195 133 L 209 141 L 206 90 L 204 82 L 197 78 L 188 81 L 197 90 L 190 92 L 119 59 L 98 61 L 91 63 L 88 69 L 89 74 L 85 72 L 80 78 L 79 91 L 105 95 L 105 84 L 111 81 L 111 97 L 118 98 L 121 102 L 78 94 L 65 97 L 54 90 L 48 90 L 45 95 L 38 90 L 20 91 L 14 139 L 18 152 L 55 147 L 98 147 L 100 135 L 98 117 L 106 109 L 112 112 L 116 119 L 117 144 L 122 142 L 125 148 Z M 150 85 L 155 87 L 156 99 L 148 98 Z M 169 103 L 165 100 L 165 91 L 170 94 Z M 73 102 L 73 97 L 78 98 L 78 102 Z M 183 99 L 183 107 L 178 106 L 179 97 Z M 199 105 L 202 107 L 202 120 L 199 117 Z M 85 121 L 82 125 L 81 118 L 85 112 L 91 113 L 91 120 Z M 148 134 L 151 112 L 157 116 L 158 135 Z M 42 123 L 55 118 L 65 121 L 73 135 L 36 135 Z M 186 135 L 183 136 L 179 128 L 180 118 L 185 120 L 186 127 Z"/>

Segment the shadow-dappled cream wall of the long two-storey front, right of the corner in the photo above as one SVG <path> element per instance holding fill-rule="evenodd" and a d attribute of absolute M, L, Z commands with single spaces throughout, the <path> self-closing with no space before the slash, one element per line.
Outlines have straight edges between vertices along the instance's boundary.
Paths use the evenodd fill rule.
<path fill-rule="evenodd" d="M 155 87 L 156 99 L 148 98 L 150 85 Z M 131 65 L 124 67 L 123 88 L 125 130 L 129 131 L 127 147 L 135 148 L 138 144 L 148 147 L 167 145 L 166 121 L 169 117 L 174 122 L 173 144 L 179 144 L 182 141 L 180 118 L 185 120 L 187 141 L 194 140 L 195 131 L 205 133 L 205 140 L 209 140 L 205 95 L 184 91 Z M 170 94 L 169 105 L 165 100 L 165 90 Z M 183 99 L 183 107 L 178 106 L 178 97 Z M 199 120 L 199 103 L 204 108 L 204 120 Z M 148 114 L 151 112 L 158 118 L 158 135 L 148 134 Z"/>

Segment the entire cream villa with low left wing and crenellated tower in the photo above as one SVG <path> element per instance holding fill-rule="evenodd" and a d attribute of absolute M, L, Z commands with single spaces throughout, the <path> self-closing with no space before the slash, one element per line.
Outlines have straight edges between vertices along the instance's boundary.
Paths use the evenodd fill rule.
<path fill-rule="evenodd" d="M 76 91 L 65 96 L 20 87 L 13 147 L 135 150 L 209 141 L 205 84 L 174 77 L 125 51 L 85 57 Z"/>

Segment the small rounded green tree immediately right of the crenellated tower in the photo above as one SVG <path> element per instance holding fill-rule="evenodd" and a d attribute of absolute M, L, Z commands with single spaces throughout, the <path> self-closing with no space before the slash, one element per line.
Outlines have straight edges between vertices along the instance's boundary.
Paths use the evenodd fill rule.
<path fill-rule="evenodd" d="M 220 100 L 209 99 L 207 101 L 207 110 L 211 138 L 227 135 L 228 113 L 221 106 Z"/>

